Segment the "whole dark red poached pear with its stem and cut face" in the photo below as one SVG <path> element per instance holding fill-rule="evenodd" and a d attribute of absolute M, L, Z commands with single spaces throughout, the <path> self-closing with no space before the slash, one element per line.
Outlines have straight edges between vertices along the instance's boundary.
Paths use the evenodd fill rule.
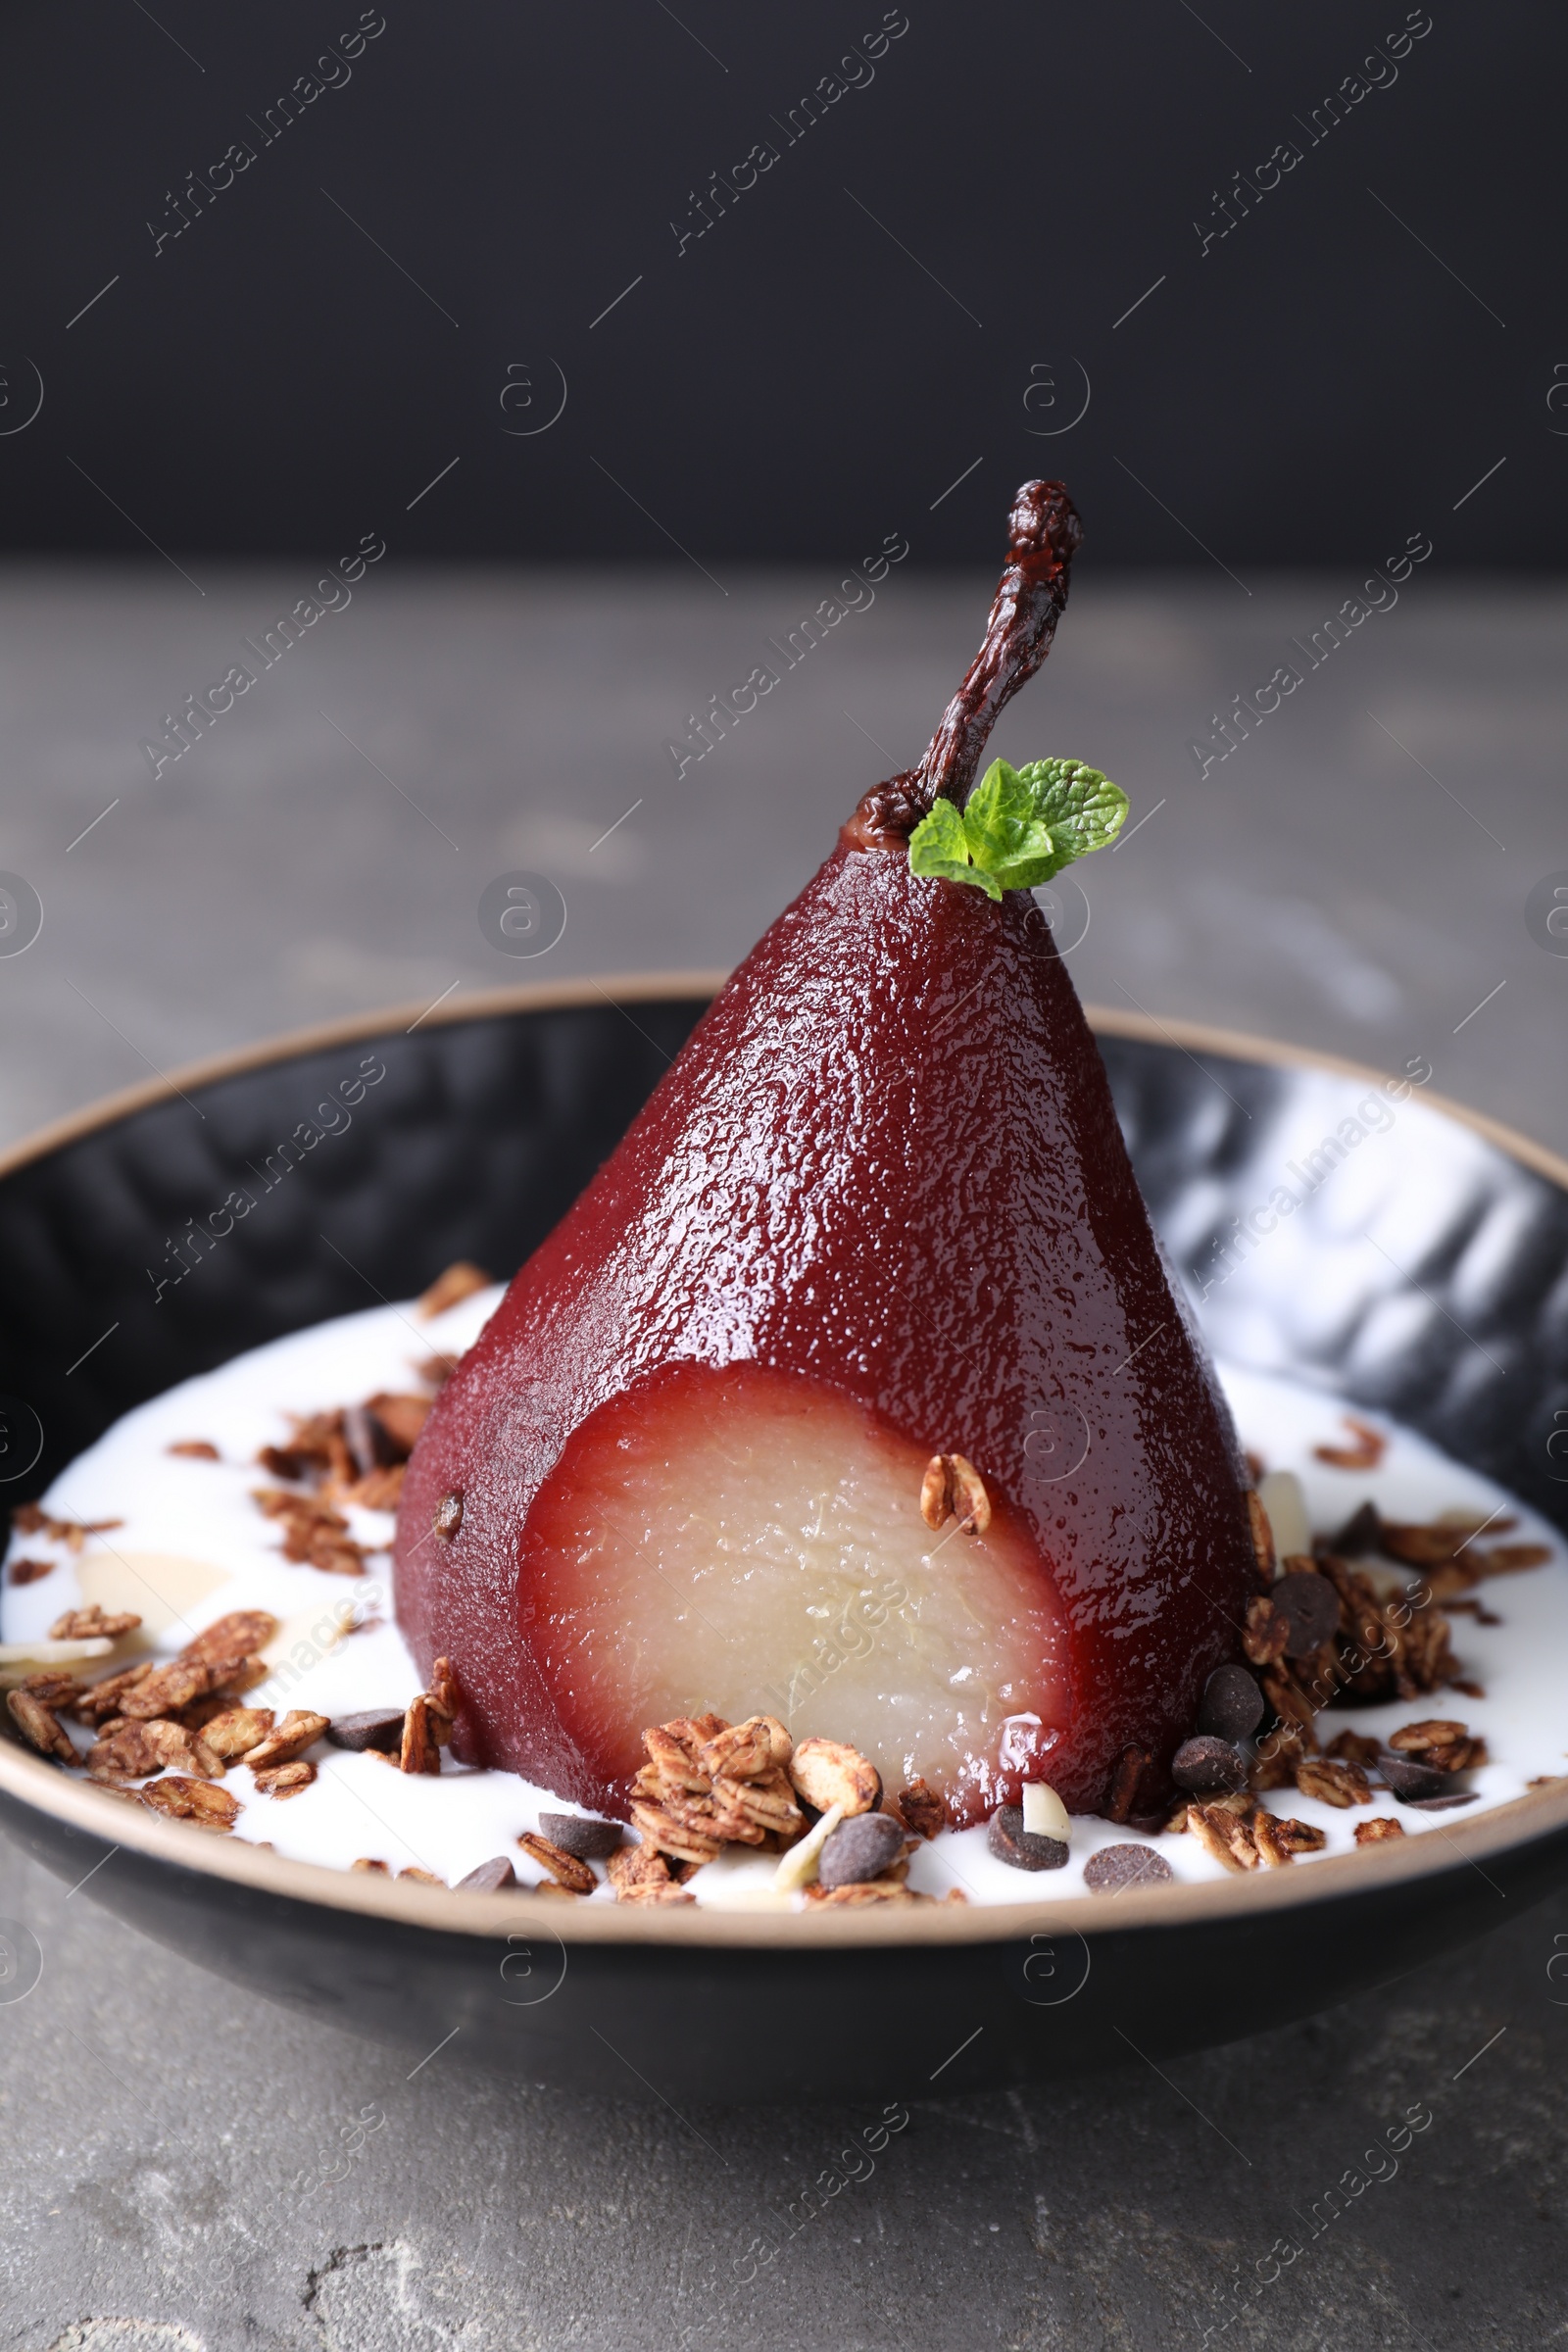
<path fill-rule="evenodd" d="M 1117 1818 L 1168 1792 L 1255 1590 L 1229 1414 L 1039 906 L 910 870 L 1079 536 L 1025 482 L 926 757 L 863 797 L 437 1399 L 397 1618 L 451 1658 L 461 1759 L 625 1813 L 646 1724 L 773 1712 L 959 1825 L 1037 1778 Z M 938 1454 L 985 1524 L 929 1524 Z"/>

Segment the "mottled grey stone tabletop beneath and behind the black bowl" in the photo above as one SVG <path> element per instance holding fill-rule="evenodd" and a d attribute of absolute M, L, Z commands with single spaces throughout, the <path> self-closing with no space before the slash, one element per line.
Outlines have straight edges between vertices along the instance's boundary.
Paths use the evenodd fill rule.
<path fill-rule="evenodd" d="M 353 1007 L 731 962 L 919 750 L 990 593 L 905 564 L 788 666 L 830 572 L 726 572 L 722 595 L 691 572 L 388 560 L 263 668 L 242 640 L 310 581 L 197 572 L 200 602 L 162 567 L 0 576 L 0 868 L 45 906 L 0 957 L 5 1138 Z M 1004 720 L 999 750 L 1091 757 L 1143 818 L 1086 870 L 1081 993 L 1378 1065 L 1420 1051 L 1446 1094 L 1568 1148 L 1568 957 L 1526 927 L 1568 868 L 1568 597 L 1418 572 L 1312 666 L 1356 581 L 1251 586 L 1088 583 Z M 256 684 L 153 776 L 141 743 L 237 661 Z M 778 684 L 677 774 L 686 715 L 759 663 Z M 1220 760 L 1215 713 L 1281 663 L 1300 687 Z M 536 964 L 477 929 L 510 868 L 567 901 Z M 489 2082 L 461 2044 L 409 2070 L 92 1896 L 0 1849 L 0 1915 L 45 1957 L 26 1999 L 0 1985 L 2 2352 L 1568 2340 L 1540 2227 L 1568 2201 L 1568 1898 L 1516 1919 L 1500 1898 L 1469 1955 L 1164 2074 L 929 2086 L 877 2171 L 748 2279 L 858 2117 L 588 2103 Z M 1432 2122 L 1399 2171 L 1326 2220 L 1410 2105 Z M 1286 2265 L 1279 2239 L 1302 2249 Z M 1267 2284 L 1220 2333 L 1237 2277 Z"/>

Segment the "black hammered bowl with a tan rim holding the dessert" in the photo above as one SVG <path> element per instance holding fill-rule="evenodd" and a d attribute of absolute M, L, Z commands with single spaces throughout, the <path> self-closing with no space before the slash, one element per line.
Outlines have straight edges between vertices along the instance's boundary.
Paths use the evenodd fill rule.
<path fill-rule="evenodd" d="M 132 1404 L 454 1258 L 510 1272 L 679 1051 L 719 974 L 378 1014 L 136 1087 L 0 1160 L 0 1501 Z M 1408 1423 L 1568 1529 L 1568 1164 L 1429 1094 L 1258 1037 L 1091 1011 L 1211 1343 Z M 158 1294 L 169 1247 L 362 1061 L 348 1127 Z M 1380 1096 L 1389 1101 L 1387 1091 Z M 1352 1136 L 1361 1129 L 1361 1136 Z M 1279 1152 L 1321 1136 L 1288 1232 Z M 1375 1145 L 1373 1145 L 1375 1134 Z M 1338 1152 L 1331 1145 L 1338 1143 Z M 1300 1160 L 1298 1160 L 1300 1174 Z M 1373 1209 L 1399 1247 L 1363 1247 Z M 1387 1230 L 1387 1223 L 1385 1223 Z M 971 1907 L 569 1905 L 334 1872 L 158 1820 L 0 1740 L 0 1825 L 85 1898 L 350 2032 L 630 2098 L 900 2098 L 1229 2042 L 1486 1933 L 1561 1884 L 1568 1783 L 1441 1837 L 1220 1884 Z"/>

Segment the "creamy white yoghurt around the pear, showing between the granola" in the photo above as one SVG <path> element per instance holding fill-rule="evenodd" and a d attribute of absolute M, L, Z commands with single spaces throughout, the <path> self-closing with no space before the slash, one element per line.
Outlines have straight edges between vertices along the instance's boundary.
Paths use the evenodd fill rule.
<path fill-rule="evenodd" d="M 421 1675 L 393 1623 L 390 1512 L 348 1510 L 355 1541 L 371 1548 L 362 1578 L 296 1566 L 277 1550 L 277 1522 L 266 1519 L 252 1498 L 259 1484 L 270 1484 L 256 1451 L 287 1444 L 292 1414 L 331 1411 L 376 1390 L 416 1388 L 414 1367 L 433 1350 L 461 1355 L 498 1301 L 501 1287 L 494 1287 L 430 1322 L 411 1303 L 341 1315 L 254 1348 L 125 1414 L 42 1496 L 56 1519 L 120 1519 L 122 1526 L 89 1536 L 78 1555 L 42 1534 L 14 1536 L 9 1557 L 54 1559 L 54 1569 L 35 1583 L 5 1585 L 0 1639 L 40 1639 L 66 1609 L 99 1599 L 106 1609 L 141 1611 L 146 1628 L 132 1642 L 150 1635 L 158 1656 L 174 1656 L 230 1609 L 268 1609 L 282 1621 L 280 1637 L 268 1644 L 273 1679 L 247 1691 L 247 1705 L 270 1705 L 280 1715 L 315 1708 L 331 1717 L 407 1705 L 421 1689 Z M 1326 1830 L 1324 1853 L 1345 1853 L 1354 1846 L 1354 1825 L 1373 1813 L 1392 1813 L 1406 1837 L 1443 1835 L 1455 1818 L 1469 1820 L 1523 1795 L 1528 1780 L 1559 1773 L 1568 1755 L 1561 1670 L 1568 1658 L 1568 1550 L 1556 1531 L 1500 1486 L 1378 1416 L 1361 1416 L 1387 1437 L 1375 1470 L 1347 1472 L 1319 1463 L 1312 1454 L 1316 1444 L 1345 1442 L 1331 1397 L 1234 1364 L 1220 1364 L 1220 1381 L 1241 1442 L 1262 1456 L 1267 1470 L 1300 1477 L 1316 1529 L 1342 1524 L 1371 1498 L 1387 1519 L 1406 1522 L 1441 1512 L 1472 1519 L 1505 1512 L 1519 1522 L 1505 1541 L 1552 1548 L 1547 1566 L 1476 1588 L 1474 1597 L 1502 1618 L 1500 1625 L 1453 1618 L 1462 1672 L 1486 1689 L 1486 1698 L 1434 1691 L 1382 1708 L 1331 1708 L 1319 1717 L 1324 1745 L 1342 1729 L 1387 1738 L 1420 1717 L 1462 1719 L 1486 1738 L 1490 1755 L 1460 1783 L 1476 1792 L 1474 1804 L 1458 1816 L 1422 1813 L 1375 1790 L 1371 1806 L 1340 1811 L 1298 1790 L 1272 1790 L 1262 1799 L 1269 1811 Z M 212 1442 L 221 1461 L 169 1454 L 181 1439 Z M 1479 1538 L 1481 1545 L 1490 1541 L 1490 1531 Z M 830 1715 L 832 1693 L 823 1696 L 823 1705 Z M 795 1729 L 832 1736 L 830 1719 Z M 78 1743 L 87 1738 L 75 1736 Z M 369 1858 L 390 1870 L 430 1870 L 449 1884 L 503 1853 L 522 1884 L 536 1884 L 543 1872 L 520 1851 L 517 1832 L 538 1828 L 541 1806 L 581 1811 L 517 1773 L 470 1771 L 449 1755 L 440 1776 L 400 1773 L 381 1757 L 327 1743 L 310 1755 L 317 1778 L 289 1799 L 256 1795 L 244 1764 L 228 1769 L 223 1788 L 242 1804 L 235 1837 L 268 1842 L 306 1863 L 346 1870 Z M 973 1903 L 1088 1896 L 1084 1863 L 1100 1846 L 1117 1844 L 1152 1844 L 1175 1879 L 1227 1875 L 1192 1837 L 1145 1839 L 1135 1830 L 1074 1816 L 1072 1856 L 1063 1870 L 1025 1875 L 987 1851 L 983 1828 L 943 1830 L 914 1853 L 910 1886 L 931 1896 L 959 1886 Z M 1316 1856 L 1298 1856 L 1293 1867 L 1312 1860 Z M 776 1870 L 776 1856 L 731 1849 L 691 1879 L 691 1891 L 698 1903 L 771 1907 L 790 1900 L 773 1886 Z M 588 1900 L 614 1900 L 609 1884 Z"/>

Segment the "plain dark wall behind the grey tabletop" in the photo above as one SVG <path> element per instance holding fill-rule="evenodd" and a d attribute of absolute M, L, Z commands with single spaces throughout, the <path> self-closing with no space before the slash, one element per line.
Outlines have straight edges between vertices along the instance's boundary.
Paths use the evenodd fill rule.
<path fill-rule="evenodd" d="M 1561 562 L 1556 7 L 910 0 L 792 146 L 877 0 L 383 14 L 263 143 L 353 0 L 12 0 L 0 414 L 26 358 L 47 397 L 0 442 L 7 543 L 136 550 L 118 506 L 174 553 L 329 557 L 456 456 L 400 555 L 842 562 L 980 461 L 922 553 L 990 562 L 1011 485 L 1070 452 L 1098 564 L 1187 564 L 1187 534 L 1244 576 L 1366 564 L 1500 459 L 1443 562 Z M 1408 14 L 1432 31 L 1312 143 Z M 233 141 L 256 160 L 176 235 Z M 778 162 L 682 252 L 757 141 Z M 1300 165 L 1204 252 L 1281 141 Z M 559 423 L 505 437 L 555 367 Z"/>

